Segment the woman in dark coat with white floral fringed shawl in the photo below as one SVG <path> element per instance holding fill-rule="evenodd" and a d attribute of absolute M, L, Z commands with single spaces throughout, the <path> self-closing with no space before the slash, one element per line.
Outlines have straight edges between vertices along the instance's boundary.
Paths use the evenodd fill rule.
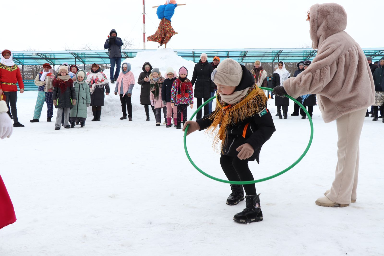
<path fill-rule="evenodd" d="M 89 84 L 91 91 L 91 106 L 93 112 L 93 119 L 91 121 L 100 121 L 101 106 L 104 106 L 104 87 L 105 94 L 109 94 L 108 78 L 101 71 L 100 66 L 93 63 L 91 71 L 87 73 L 86 83 Z"/>

